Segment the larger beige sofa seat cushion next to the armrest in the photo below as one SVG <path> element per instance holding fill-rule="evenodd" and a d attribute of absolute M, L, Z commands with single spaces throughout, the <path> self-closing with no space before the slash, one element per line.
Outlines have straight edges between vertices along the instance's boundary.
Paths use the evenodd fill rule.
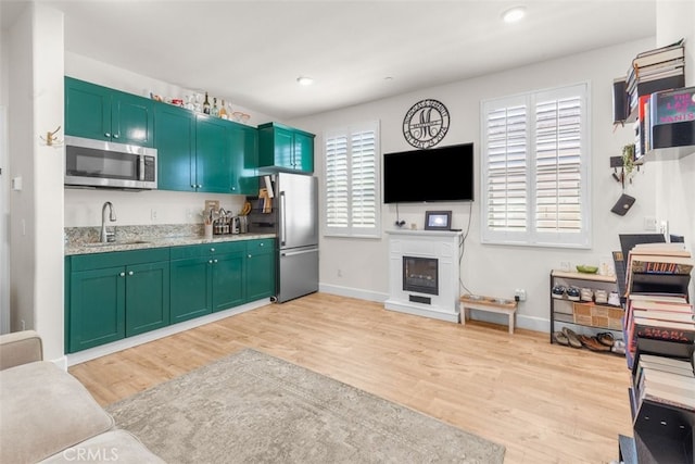
<path fill-rule="evenodd" d="M 0 462 L 41 461 L 113 427 L 72 375 L 50 362 L 0 372 Z"/>

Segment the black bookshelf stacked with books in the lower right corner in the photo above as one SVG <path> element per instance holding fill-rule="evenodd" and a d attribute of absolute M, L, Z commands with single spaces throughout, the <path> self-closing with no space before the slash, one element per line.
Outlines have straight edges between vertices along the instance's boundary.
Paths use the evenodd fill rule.
<path fill-rule="evenodd" d="M 690 327 L 680 335 L 648 330 L 664 321 L 695 321 L 687 294 L 692 258 L 684 248 L 686 256 L 677 258 L 678 247 L 636 244 L 627 261 L 623 336 L 634 437 L 618 438 L 624 463 L 695 464 L 695 342 L 685 336 Z"/>

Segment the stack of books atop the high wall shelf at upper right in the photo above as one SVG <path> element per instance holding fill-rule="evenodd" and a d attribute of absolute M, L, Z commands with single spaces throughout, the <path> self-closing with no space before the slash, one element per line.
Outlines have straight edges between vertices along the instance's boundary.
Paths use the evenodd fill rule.
<path fill-rule="evenodd" d="M 641 96 L 685 86 L 685 49 L 681 39 L 666 47 L 637 54 L 627 74 L 630 111 L 637 108 Z"/>

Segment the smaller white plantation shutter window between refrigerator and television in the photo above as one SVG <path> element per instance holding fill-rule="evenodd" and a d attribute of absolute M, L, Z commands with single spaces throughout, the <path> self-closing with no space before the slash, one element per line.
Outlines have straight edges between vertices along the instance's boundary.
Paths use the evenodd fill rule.
<path fill-rule="evenodd" d="M 326 235 L 379 237 L 379 125 L 325 135 Z"/>

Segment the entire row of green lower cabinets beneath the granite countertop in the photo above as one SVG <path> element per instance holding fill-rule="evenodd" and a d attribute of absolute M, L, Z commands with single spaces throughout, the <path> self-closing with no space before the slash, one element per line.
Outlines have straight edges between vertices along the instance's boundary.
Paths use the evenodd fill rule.
<path fill-rule="evenodd" d="M 65 351 L 77 351 L 275 294 L 275 239 L 65 259 Z"/>

